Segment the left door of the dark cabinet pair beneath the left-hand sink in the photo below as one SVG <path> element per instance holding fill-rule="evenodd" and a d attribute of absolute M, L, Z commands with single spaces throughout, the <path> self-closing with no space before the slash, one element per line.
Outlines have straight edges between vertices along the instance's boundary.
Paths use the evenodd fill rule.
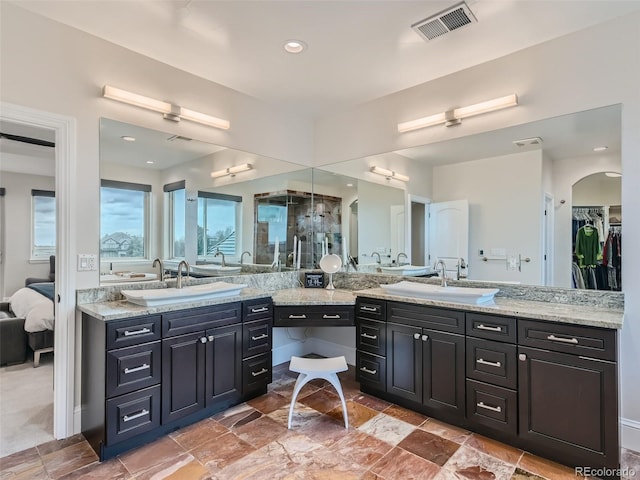
<path fill-rule="evenodd" d="M 204 332 L 162 341 L 162 423 L 204 408 Z"/>

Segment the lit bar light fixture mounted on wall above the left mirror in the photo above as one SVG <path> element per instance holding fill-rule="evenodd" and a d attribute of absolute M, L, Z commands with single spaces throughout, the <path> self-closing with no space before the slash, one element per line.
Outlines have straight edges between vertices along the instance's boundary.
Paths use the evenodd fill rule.
<path fill-rule="evenodd" d="M 220 128 L 222 130 L 228 130 L 230 127 L 228 120 L 196 112 L 195 110 L 180 107 L 179 105 L 173 105 L 162 100 L 156 100 L 155 98 L 145 97 L 144 95 L 112 87 L 111 85 L 104 86 L 102 89 L 102 96 L 110 100 L 116 100 L 118 102 L 128 103 L 129 105 L 162 113 L 166 120 L 174 122 L 189 120 L 191 122 L 201 123 L 202 125 Z"/>

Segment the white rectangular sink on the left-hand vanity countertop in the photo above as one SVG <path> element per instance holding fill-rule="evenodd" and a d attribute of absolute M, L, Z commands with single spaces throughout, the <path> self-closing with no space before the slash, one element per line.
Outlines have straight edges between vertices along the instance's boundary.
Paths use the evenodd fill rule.
<path fill-rule="evenodd" d="M 145 307 L 195 302 L 212 298 L 239 295 L 245 284 L 215 282 L 191 285 L 183 288 L 150 288 L 146 290 L 121 290 L 127 301 Z"/>

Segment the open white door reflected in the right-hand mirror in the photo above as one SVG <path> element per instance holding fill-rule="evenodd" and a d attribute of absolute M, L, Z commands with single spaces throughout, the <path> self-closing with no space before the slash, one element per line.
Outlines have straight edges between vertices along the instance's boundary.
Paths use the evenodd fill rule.
<path fill-rule="evenodd" d="M 447 276 L 456 278 L 458 261 L 469 261 L 469 201 L 429 205 L 429 264 L 443 260 Z"/>

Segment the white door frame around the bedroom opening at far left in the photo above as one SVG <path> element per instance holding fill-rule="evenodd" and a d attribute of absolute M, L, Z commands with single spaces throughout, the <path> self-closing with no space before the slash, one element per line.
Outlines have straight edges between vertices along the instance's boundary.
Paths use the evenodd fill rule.
<path fill-rule="evenodd" d="M 76 120 L 29 107 L 0 102 L 0 118 L 55 132 L 56 280 L 55 355 L 53 360 L 53 436 L 74 433 L 76 240 Z"/>

